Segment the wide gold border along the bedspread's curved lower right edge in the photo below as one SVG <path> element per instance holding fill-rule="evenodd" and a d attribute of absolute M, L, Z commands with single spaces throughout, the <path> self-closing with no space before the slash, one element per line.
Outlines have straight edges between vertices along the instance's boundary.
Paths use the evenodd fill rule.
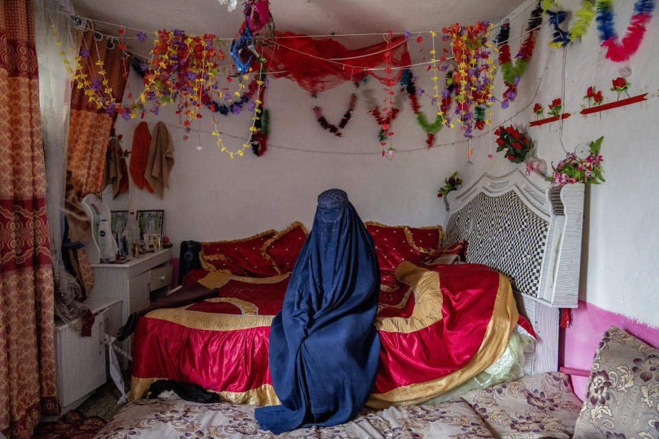
<path fill-rule="evenodd" d="M 466 366 L 438 379 L 405 385 L 383 394 L 371 394 L 367 405 L 384 408 L 390 405 L 421 403 L 475 377 L 504 353 L 518 318 L 517 305 L 510 282 L 506 276 L 499 274 L 499 287 L 494 301 L 492 319 L 487 324 L 481 347 Z"/>

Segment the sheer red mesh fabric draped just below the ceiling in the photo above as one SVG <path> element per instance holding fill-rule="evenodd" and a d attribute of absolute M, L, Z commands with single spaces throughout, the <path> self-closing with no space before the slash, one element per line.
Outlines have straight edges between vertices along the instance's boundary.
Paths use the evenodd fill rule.
<path fill-rule="evenodd" d="M 389 78 L 389 86 L 393 86 L 400 81 L 403 69 L 391 69 L 390 73 L 384 69 L 410 65 L 403 35 L 391 38 L 389 43 L 383 41 L 362 49 L 346 49 L 329 38 L 316 40 L 291 32 L 276 32 L 275 44 L 264 47 L 264 56 L 268 60 L 268 71 L 275 72 L 268 73 L 269 76 L 294 80 L 313 94 L 345 81 L 362 80 L 366 75 L 372 75 L 382 84 Z M 368 70 L 378 67 L 382 70 Z"/>

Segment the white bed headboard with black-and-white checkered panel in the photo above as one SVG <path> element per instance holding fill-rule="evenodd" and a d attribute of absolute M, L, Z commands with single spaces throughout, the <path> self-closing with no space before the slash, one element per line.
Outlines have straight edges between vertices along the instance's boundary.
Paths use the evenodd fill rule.
<path fill-rule="evenodd" d="M 516 169 L 500 177 L 483 174 L 447 198 L 444 244 L 466 239 L 467 262 L 510 278 L 520 312 L 540 339 L 534 373 L 556 370 L 558 308 L 577 307 L 583 189 L 553 188 Z"/>

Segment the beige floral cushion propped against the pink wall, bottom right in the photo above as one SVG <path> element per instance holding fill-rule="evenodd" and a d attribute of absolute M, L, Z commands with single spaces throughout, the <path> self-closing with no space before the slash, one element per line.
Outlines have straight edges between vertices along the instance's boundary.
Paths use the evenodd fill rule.
<path fill-rule="evenodd" d="M 610 327 L 590 369 L 579 438 L 659 438 L 659 350 Z"/>

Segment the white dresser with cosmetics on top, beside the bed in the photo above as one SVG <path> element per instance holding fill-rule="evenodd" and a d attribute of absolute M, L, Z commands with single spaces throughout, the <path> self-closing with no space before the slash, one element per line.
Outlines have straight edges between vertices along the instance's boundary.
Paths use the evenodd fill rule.
<path fill-rule="evenodd" d="M 172 283 L 170 248 L 142 254 L 126 263 L 93 263 L 94 289 L 92 296 L 122 299 L 122 324 L 130 313 L 150 305 L 150 293 L 166 291 Z M 110 333 L 110 335 L 117 335 Z M 132 337 L 124 341 L 122 348 L 132 353 Z M 122 367 L 127 362 L 119 359 Z"/>

